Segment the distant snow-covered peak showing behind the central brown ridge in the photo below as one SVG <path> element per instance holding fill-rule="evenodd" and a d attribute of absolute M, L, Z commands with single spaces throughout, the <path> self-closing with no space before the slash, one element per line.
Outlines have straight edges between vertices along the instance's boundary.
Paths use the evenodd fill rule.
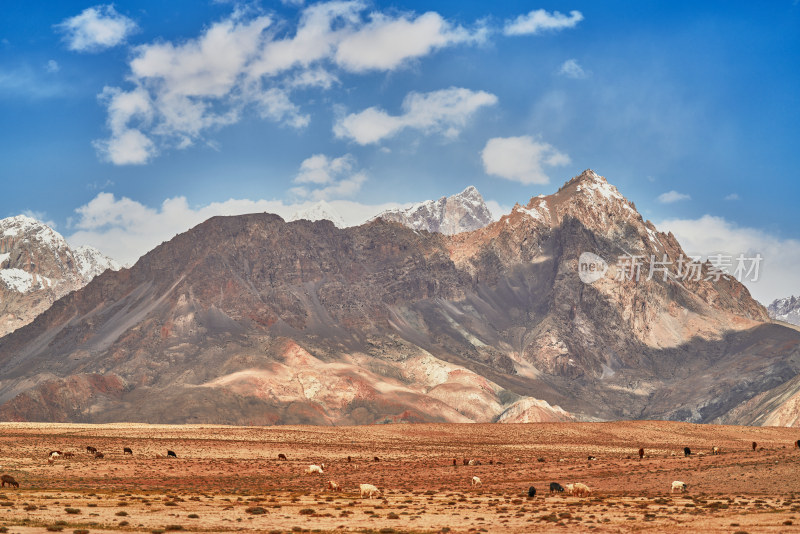
<path fill-rule="evenodd" d="M 427 230 L 446 235 L 471 232 L 492 222 L 489 208 L 473 186 L 450 197 L 426 200 L 410 208 L 387 210 L 376 218 L 397 222 L 413 230 Z"/>

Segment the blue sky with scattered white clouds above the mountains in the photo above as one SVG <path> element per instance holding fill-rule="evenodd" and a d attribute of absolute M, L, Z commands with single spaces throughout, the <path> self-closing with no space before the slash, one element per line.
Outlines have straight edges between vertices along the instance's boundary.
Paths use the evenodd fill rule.
<path fill-rule="evenodd" d="M 592 168 L 800 292 L 796 1 L 495 4 L 4 5 L 0 216 L 130 262 L 218 213 L 500 213 Z"/>

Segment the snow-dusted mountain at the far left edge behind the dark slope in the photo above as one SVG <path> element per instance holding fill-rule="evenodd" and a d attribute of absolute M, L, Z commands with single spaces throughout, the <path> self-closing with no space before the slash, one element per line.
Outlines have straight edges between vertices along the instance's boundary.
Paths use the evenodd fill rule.
<path fill-rule="evenodd" d="M 70 248 L 61 234 L 36 219 L 0 220 L 0 337 L 106 269 L 119 268 L 97 249 Z"/>

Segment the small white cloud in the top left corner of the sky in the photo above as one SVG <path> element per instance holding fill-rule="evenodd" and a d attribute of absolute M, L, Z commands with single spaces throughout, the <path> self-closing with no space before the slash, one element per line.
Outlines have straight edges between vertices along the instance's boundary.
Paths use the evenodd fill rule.
<path fill-rule="evenodd" d="M 57 24 L 56 28 L 64 32 L 70 50 L 97 52 L 122 44 L 137 26 L 109 4 L 86 8 L 80 15 Z"/>

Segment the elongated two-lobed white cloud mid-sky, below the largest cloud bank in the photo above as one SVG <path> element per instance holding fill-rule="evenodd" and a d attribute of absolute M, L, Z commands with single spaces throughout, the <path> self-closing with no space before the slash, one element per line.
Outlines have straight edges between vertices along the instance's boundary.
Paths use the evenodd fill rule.
<path fill-rule="evenodd" d="M 402 115 L 389 115 L 371 107 L 337 120 L 333 131 L 336 137 L 352 139 L 360 145 L 377 143 L 406 128 L 455 137 L 476 111 L 496 103 L 497 97 L 491 93 L 458 87 L 412 92 L 403 100 Z"/>

